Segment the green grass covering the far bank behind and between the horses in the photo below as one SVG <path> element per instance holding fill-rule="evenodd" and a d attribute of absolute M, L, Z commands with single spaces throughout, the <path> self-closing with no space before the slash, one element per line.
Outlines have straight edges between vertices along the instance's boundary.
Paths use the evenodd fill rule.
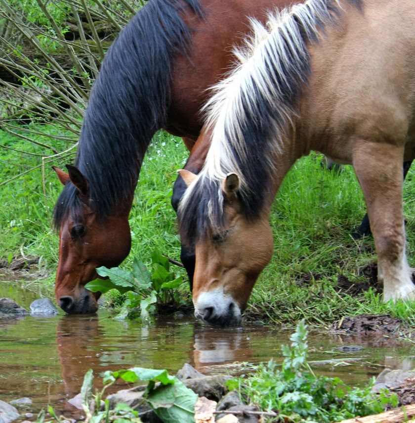
<path fill-rule="evenodd" d="M 53 127 L 49 130 L 51 134 L 55 131 Z M 28 149 L 27 143 L 3 132 L 0 143 Z M 29 151 L 44 152 L 42 147 L 32 145 Z M 150 263 L 155 248 L 179 259 L 180 241 L 170 197 L 176 170 L 186 158 L 180 139 L 163 132 L 156 134 L 143 163 L 130 214 L 133 243 L 124 267 L 128 268 L 134 257 Z M 346 166 L 340 174 L 329 172 L 322 169 L 321 160 L 322 156 L 316 154 L 299 160 L 277 194 L 271 213 L 274 255 L 252 292 L 248 318 L 290 324 L 306 318 L 327 323 L 346 314 L 389 313 L 415 323 L 412 303 L 384 305 L 373 292 L 352 297 L 336 291 L 339 274 L 356 284 L 365 282 L 358 270 L 376 262 L 376 254 L 371 236 L 355 241 L 350 235 L 366 212 L 353 169 Z M 63 166 L 68 161 L 54 164 Z M 1 182 L 24 170 L 22 166 L 38 164 L 39 157 L 26 155 L 22 160 L 15 151 L 0 148 L 0 162 Z M 412 266 L 414 178 L 415 168 L 407 177 L 404 192 L 407 252 Z M 48 283 L 53 283 L 56 268 L 58 238 L 51 229 L 51 213 L 60 190 L 50 165 L 45 169 L 44 186 L 39 169 L 0 187 L 0 257 L 19 255 L 20 251 L 40 256 L 42 266 L 51 273 Z M 183 270 L 178 271 L 186 278 Z"/>

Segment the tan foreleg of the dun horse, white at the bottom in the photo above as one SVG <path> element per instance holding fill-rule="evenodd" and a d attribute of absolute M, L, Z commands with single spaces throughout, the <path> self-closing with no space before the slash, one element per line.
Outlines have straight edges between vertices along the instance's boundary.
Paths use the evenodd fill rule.
<path fill-rule="evenodd" d="M 353 167 L 365 195 L 378 257 L 383 300 L 414 296 L 415 286 L 405 253 L 402 209 L 403 147 L 360 141 Z"/>

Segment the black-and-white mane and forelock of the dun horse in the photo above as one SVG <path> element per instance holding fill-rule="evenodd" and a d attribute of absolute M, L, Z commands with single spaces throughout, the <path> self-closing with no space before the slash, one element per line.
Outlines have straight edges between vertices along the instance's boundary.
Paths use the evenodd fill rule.
<path fill-rule="evenodd" d="M 284 149 L 311 72 L 308 45 L 342 17 L 340 0 L 307 0 L 271 13 L 265 25 L 251 19 L 252 35 L 235 50 L 235 69 L 213 87 L 203 109 L 210 147 L 179 207 L 180 234 L 188 243 L 225 229 L 220 187 L 230 172 L 240 177 L 243 213 L 261 215 L 272 190 L 273 156 Z"/>

